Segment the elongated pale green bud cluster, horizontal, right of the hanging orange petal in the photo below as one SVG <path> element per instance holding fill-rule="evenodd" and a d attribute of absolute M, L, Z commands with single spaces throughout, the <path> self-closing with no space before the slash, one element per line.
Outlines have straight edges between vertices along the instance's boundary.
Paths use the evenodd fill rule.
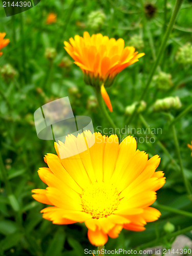
<path fill-rule="evenodd" d="M 180 98 L 176 96 L 156 100 L 153 108 L 155 111 L 178 110 L 181 108 L 181 105 Z"/>

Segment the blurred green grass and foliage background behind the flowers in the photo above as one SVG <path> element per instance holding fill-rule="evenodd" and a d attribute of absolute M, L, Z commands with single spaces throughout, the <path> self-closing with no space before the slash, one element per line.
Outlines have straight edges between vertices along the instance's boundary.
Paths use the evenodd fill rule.
<path fill-rule="evenodd" d="M 0 57 L 0 255 L 80 256 L 84 254 L 84 248 L 95 249 L 88 242 L 84 224 L 53 225 L 41 217 L 39 211 L 45 206 L 31 197 L 31 189 L 45 188 L 37 175 L 38 167 L 46 166 L 44 155 L 55 153 L 53 141 L 38 139 L 33 114 L 41 105 L 69 96 L 74 115 L 90 116 L 95 131 L 97 126 L 100 130 L 110 127 L 95 104 L 93 88 L 84 84 L 81 70 L 71 63 L 72 59 L 63 49 L 63 41 L 76 34 L 100 32 L 116 39 L 123 38 L 126 46 L 129 42 L 135 42 L 133 46 L 145 53 L 139 62 L 122 71 L 113 86 L 107 89 L 114 109 L 110 115 L 119 128 L 124 127 L 127 119 L 125 108 L 138 101 L 142 94 L 174 4 L 173 0 L 50 0 L 41 1 L 34 8 L 10 17 L 6 17 L 0 6 L 0 32 L 6 32 L 6 38 L 10 39 L 10 44 L 2 50 Z M 156 77 L 145 97 L 146 110 L 140 118 L 136 114 L 129 124 L 130 129 L 162 128 L 162 133 L 156 134 L 155 143 L 138 142 L 139 150 L 146 151 L 150 157 L 160 155 L 158 169 L 163 170 L 166 176 L 166 183 L 158 191 L 154 206 L 161 204 L 187 212 L 192 211 L 192 204 L 183 183 L 172 125 L 169 125 L 167 115 L 154 112 L 151 106 L 156 99 L 179 96 L 182 107 L 172 111 L 173 117 L 177 117 L 192 102 L 192 63 L 185 63 L 184 60 L 181 63 L 176 57 L 179 49 L 191 42 L 191 7 L 191 1 L 183 2 L 155 74 L 170 74 L 167 76 L 168 82 L 171 76 L 170 88 L 162 90 Z M 98 27 L 91 26 L 90 13 L 100 9 L 106 18 L 101 18 Z M 57 21 L 46 25 L 51 12 L 57 14 Z M 56 49 L 56 56 L 52 60 L 45 57 L 47 48 Z M 12 75 L 5 72 L 4 66 L 7 64 L 15 70 L 11 72 Z M 163 88 L 164 82 L 167 81 L 162 84 L 160 80 Z M 191 111 L 186 111 L 175 122 L 184 175 L 189 186 L 192 157 L 187 143 L 192 138 Z M 148 130 L 144 135 L 132 135 L 138 139 L 146 135 L 154 137 L 148 134 Z M 192 214 L 186 216 L 182 212 L 159 209 L 161 218 L 148 223 L 145 231 L 123 230 L 119 238 L 109 239 L 106 249 L 128 250 L 157 245 L 169 248 L 179 231 L 192 239 L 189 228 L 192 226 Z M 175 225 L 173 234 L 164 231 L 163 226 L 167 222 Z"/>

